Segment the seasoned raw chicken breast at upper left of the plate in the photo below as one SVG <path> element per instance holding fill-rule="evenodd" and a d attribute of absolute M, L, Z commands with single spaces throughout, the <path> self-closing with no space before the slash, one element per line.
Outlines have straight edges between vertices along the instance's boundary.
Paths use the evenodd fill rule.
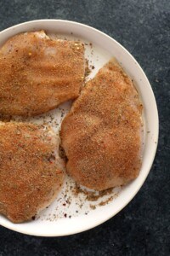
<path fill-rule="evenodd" d="M 45 32 L 21 33 L 0 49 L 0 113 L 45 113 L 79 96 L 84 45 L 54 40 Z"/>

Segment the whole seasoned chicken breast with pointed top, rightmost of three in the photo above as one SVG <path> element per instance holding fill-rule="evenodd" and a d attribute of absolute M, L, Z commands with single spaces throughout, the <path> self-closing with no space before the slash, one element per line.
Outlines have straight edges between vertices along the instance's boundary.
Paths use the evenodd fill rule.
<path fill-rule="evenodd" d="M 142 106 L 115 59 L 90 80 L 61 126 L 67 172 L 89 189 L 125 184 L 139 175 Z"/>

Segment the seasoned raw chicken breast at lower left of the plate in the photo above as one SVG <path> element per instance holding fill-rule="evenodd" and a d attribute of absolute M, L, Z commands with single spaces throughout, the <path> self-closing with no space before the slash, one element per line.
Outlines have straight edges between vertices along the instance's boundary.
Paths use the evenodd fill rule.
<path fill-rule="evenodd" d="M 0 212 L 20 223 L 48 207 L 63 183 L 63 168 L 53 131 L 1 123 Z"/>

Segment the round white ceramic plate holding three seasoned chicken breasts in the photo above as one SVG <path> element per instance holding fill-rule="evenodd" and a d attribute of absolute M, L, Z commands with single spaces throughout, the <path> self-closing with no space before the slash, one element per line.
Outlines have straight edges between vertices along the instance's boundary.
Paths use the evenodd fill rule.
<path fill-rule="evenodd" d="M 48 209 L 42 211 L 35 220 L 24 224 L 13 224 L 0 215 L 0 224 L 11 230 L 34 236 L 66 236 L 89 230 L 102 224 L 116 215 L 117 212 L 120 212 L 137 194 L 150 172 L 150 167 L 156 154 L 158 113 L 150 83 L 138 62 L 121 44 L 93 27 L 67 20 L 34 20 L 12 26 L 0 32 L 0 46 L 17 33 L 38 30 L 45 30 L 48 34 L 59 38 L 76 38 L 85 42 L 89 64 L 95 67 L 90 77 L 93 77 L 98 72 L 99 67 L 102 67 L 106 61 L 115 56 L 130 78 L 133 79 L 144 105 L 143 163 L 139 177 L 132 183 L 122 189 L 113 189 L 111 195 L 105 195 L 99 201 L 93 202 L 86 201 L 83 194 L 73 195 L 71 186 L 74 186 L 74 183 L 67 178 L 58 199 Z M 92 43 L 92 45 L 89 43 Z M 29 120 L 36 123 L 42 123 L 45 120 L 45 122 L 53 126 L 55 131 L 58 131 L 59 124 L 65 113 L 68 112 L 70 105 L 71 102 L 67 102 L 50 113 Z M 113 200 L 110 200 L 105 206 L 99 207 L 99 202 L 107 201 L 111 196 L 114 197 Z M 69 204 L 67 204 L 68 201 L 70 201 Z"/>

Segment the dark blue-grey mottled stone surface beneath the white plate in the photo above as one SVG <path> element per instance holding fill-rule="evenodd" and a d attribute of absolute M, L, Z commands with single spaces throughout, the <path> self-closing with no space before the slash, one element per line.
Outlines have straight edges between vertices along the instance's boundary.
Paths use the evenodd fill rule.
<path fill-rule="evenodd" d="M 159 145 L 144 186 L 116 217 L 82 234 L 56 238 L 0 227 L 0 256 L 170 255 L 170 1 L 0 0 L 0 30 L 45 18 L 94 26 L 133 54 L 156 96 Z"/>

